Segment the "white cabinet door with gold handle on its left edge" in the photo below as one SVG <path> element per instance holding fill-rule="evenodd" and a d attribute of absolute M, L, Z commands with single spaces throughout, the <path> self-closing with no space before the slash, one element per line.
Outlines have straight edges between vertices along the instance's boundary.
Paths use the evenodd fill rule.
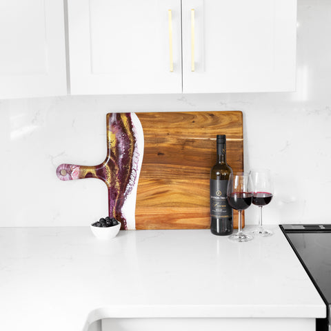
<path fill-rule="evenodd" d="M 184 93 L 295 89 L 296 0 L 182 4 Z"/>

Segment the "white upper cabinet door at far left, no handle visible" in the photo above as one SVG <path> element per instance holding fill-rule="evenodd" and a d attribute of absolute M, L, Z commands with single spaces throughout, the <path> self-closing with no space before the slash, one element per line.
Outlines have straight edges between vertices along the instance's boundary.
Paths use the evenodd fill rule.
<path fill-rule="evenodd" d="M 0 98 L 66 94 L 63 1 L 0 0 Z"/>

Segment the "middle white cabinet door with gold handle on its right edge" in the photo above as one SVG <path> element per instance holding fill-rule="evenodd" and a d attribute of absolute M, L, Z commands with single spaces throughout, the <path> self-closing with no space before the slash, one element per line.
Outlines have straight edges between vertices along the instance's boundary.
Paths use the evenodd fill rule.
<path fill-rule="evenodd" d="M 180 0 L 68 0 L 68 17 L 72 94 L 181 92 Z"/>

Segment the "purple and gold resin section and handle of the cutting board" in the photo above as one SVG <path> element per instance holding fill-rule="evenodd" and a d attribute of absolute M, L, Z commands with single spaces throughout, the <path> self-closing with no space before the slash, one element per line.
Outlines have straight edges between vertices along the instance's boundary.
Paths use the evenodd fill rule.
<path fill-rule="evenodd" d="M 63 181 L 98 178 L 108 186 L 108 214 L 128 230 L 123 205 L 137 183 L 139 161 L 137 132 L 130 113 L 107 114 L 107 156 L 99 165 L 61 164 L 57 177 Z"/>

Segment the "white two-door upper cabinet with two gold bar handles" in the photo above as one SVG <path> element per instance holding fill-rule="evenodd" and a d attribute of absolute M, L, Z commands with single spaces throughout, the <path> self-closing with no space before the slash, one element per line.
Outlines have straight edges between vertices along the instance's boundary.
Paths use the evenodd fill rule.
<path fill-rule="evenodd" d="M 68 0 L 71 93 L 294 90 L 296 17 L 297 0 Z"/>

